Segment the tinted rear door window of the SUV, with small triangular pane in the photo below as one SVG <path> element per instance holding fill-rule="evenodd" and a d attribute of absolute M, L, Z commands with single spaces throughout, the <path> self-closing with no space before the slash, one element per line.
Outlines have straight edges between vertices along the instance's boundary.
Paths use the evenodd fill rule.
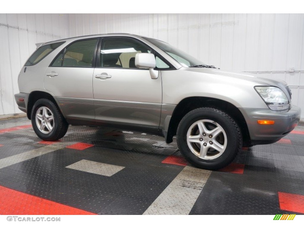
<path fill-rule="evenodd" d="M 60 54 L 52 66 L 92 67 L 93 54 L 97 39 L 82 40 L 72 43 L 65 50 L 64 57 Z"/>

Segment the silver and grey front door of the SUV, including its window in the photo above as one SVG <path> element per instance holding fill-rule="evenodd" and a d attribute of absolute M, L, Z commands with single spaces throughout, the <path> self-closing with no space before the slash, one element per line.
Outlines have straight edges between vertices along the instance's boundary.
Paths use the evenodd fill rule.
<path fill-rule="evenodd" d="M 151 49 L 130 38 L 103 38 L 93 76 L 96 123 L 158 129 L 161 76 L 135 66 L 136 53 Z"/>

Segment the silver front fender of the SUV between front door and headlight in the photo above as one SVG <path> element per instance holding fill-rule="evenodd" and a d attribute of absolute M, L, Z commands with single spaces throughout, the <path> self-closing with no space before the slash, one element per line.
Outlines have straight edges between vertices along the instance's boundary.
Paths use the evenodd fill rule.
<path fill-rule="evenodd" d="M 163 103 L 177 105 L 187 97 L 210 97 L 237 108 L 268 108 L 254 90 L 264 83 L 185 69 L 162 71 Z"/>

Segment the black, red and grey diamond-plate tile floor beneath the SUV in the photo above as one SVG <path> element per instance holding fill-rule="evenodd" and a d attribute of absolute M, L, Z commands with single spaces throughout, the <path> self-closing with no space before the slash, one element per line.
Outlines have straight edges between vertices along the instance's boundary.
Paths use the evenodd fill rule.
<path fill-rule="evenodd" d="M 298 126 L 207 171 L 176 140 L 69 126 L 45 142 L 26 117 L 0 120 L 0 214 L 304 214 L 303 148 Z"/>

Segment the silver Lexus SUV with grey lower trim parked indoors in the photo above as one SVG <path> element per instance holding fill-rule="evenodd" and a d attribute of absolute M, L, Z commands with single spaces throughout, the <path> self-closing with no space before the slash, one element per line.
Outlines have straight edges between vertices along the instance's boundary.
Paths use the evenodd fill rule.
<path fill-rule="evenodd" d="M 195 166 L 223 168 L 242 146 L 274 143 L 297 126 L 284 81 L 222 71 L 168 43 L 104 34 L 43 43 L 22 67 L 15 95 L 39 138 L 69 124 L 177 136 Z"/>

